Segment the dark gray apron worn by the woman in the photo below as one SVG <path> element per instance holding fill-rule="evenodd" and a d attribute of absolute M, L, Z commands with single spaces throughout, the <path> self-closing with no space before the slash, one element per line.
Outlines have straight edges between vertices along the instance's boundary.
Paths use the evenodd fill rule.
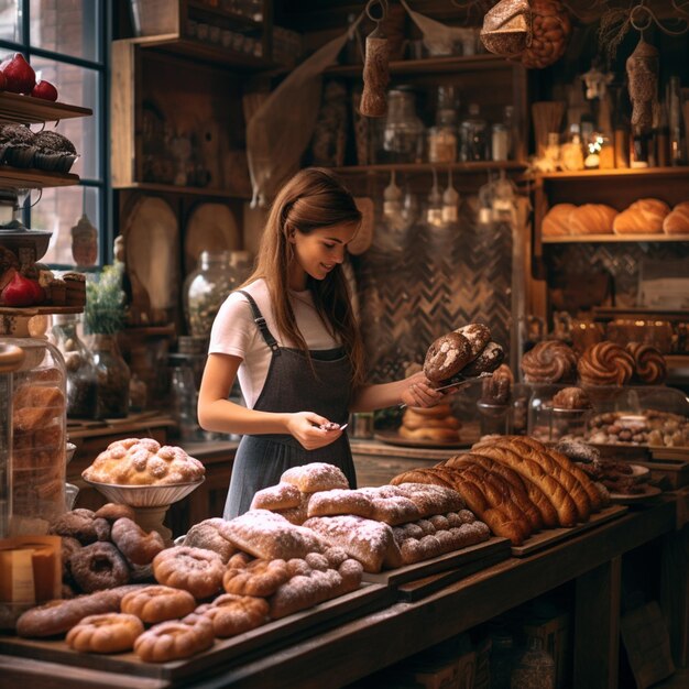
<path fill-rule="evenodd" d="M 280 347 L 254 299 L 245 292 L 240 292 L 249 299 L 254 321 L 273 352 L 265 384 L 253 408 L 282 414 L 315 412 L 331 422 L 344 424 L 351 395 L 351 364 L 343 348 L 311 351 L 311 370 L 304 352 Z M 310 462 L 339 467 L 350 488 L 357 488 L 354 463 L 346 434 L 317 450 L 304 449 L 288 434 L 243 436 L 232 466 L 222 516 L 231 520 L 243 514 L 249 510 L 256 491 L 278 483 L 280 477 L 287 469 Z"/>

